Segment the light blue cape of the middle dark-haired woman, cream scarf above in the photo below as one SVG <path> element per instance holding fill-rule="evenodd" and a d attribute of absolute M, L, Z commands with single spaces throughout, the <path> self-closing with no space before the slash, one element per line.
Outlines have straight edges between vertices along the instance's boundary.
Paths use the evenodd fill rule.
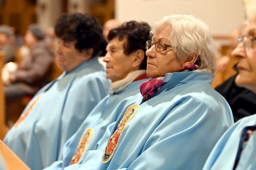
<path fill-rule="evenodd" d="M 123 90 L 116 92 L 114 94 L 108 95 L 100 101 L 100 103 L 92 110 L 88 117 L 84 120 L 83 124 L 80 126 L 78 131 L 65 143 L 63 148 L 63 160 L 54 162 L 50 167 L 44 170 L 60 170 L 67 167 L 74 156 L 74 153 L 78 147 L 79 141 L 83 136 L 84 132 L 88 128 L 93 128 L 93 135 L 87 145 L 87 148 L 83 155 L 81 156 L 78 164 L 82 162 L 86 153 L 90 150 L 95 149 L 96 143 L 101 139 L 106 128 L 112 122 L 115 122 L 118 114 L 121 113 L 123 107 L 127 105 L 127 100 L 125 98 L 134 96 L 140 92 L 140 84 L 147 79 L 142 79 L 130 83 Z M 118 108 L 115 107 L 121 101 Z M 129 101 L 130 102 L 130 101 Z M 78 165 L 72 165 L 74 167 Z M 69 167 L 69 168 L 70 168 Z"/>

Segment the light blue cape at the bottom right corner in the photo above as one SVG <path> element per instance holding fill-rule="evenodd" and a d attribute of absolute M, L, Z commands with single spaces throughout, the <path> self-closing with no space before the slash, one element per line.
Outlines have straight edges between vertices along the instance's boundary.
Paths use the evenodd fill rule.
<path fill-rule="evenodd" d="M 232 170 L 239 142 L 245 127 L 256 125 L 256 115 L 240 119 L 218 141 L 212 149 L 203 170 Z M 256 169 L 256 135 L 252 135 L 241 154 L 236 170 Z"/>

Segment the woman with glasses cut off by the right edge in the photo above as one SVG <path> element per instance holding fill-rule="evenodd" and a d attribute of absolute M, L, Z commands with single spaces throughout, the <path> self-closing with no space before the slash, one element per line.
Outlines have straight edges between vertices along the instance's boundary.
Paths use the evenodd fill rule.
<path fill-rule="evenodd" d="M 256 94 L 256 0 L 251 0 L 247 7 L 249 24 L 232 56 L 239 60 L 235 83 Z M 255 170 L 255 129 L 256 115 L 237 121 L 218 141 L 203 169 Z"/>

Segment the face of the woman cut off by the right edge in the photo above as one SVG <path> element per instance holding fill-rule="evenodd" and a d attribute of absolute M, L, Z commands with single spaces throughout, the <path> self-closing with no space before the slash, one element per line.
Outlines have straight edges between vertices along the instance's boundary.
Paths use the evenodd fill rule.
<path fill-rule="evenodd" d="M 245 28 L 243 36 L 252 36 L 252 40 L 255 40 L 256 19 L 250 22 Z M 235 83 L 237 86 L 247 88 L 256 93 L 256 41 L 252 41 L 252 45 L 246 49 L 243 40 L 232 51 L 232 56 L 239 60 L 237 65 L 239 73 L 236 76 Z"/>

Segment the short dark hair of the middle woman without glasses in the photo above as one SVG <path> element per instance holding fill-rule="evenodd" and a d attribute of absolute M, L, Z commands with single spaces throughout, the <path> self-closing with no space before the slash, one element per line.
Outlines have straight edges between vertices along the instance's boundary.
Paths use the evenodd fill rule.
<path fill-rule="evenodd" d="M 124 22 L 120 27 L 111 29 L 108 33 L 109 41 L 117 37 L 119 41 L 126 39 L 123 45 L 124 54 L 142 49 L 146 52 L 146 41 L 150 40 L 150 25 L 147 22 L 129 21 Z M 145 55 L 140 69 L 147 69 L 147 56 Z"/>

